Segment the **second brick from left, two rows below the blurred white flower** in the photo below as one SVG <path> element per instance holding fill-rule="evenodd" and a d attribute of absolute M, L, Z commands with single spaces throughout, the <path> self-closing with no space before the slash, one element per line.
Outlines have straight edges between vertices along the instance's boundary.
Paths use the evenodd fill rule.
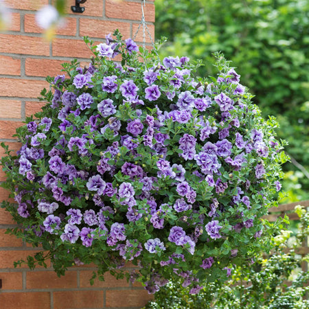
<path fill-rule="evenodd" d="M 61 64 L 65 62 L 62 60 L 52 59 L 32 59 L 25 60 L 25 74 L 27 76 L 56 76 L 63 74 L 60 70 L 63 69 Z"/>

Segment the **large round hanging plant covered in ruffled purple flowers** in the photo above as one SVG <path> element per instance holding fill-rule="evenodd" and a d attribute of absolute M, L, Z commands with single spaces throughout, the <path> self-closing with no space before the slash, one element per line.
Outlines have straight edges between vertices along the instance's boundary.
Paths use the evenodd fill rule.
<path fill-rule="evenodd" d="M 286 161 L 273 118 L 264 121 L 240 76 L 216 54 L 217 78 L 194 78 L 187 57 L 163 62 L 115 32 L 47 78 L 41 113 L 17 130 L 23 146 L 3 157 L 18 206 L 3 202 L 42 244 L 60 275 L 94 262 L 154 293 L 177 277 L 191 293 L 249 263 L 276 225 L 260 220 L 279 191 Z M 121 65 L 111 60 L 122 55 Z M 47 253 L 46 253 L 47 251 Z"/>

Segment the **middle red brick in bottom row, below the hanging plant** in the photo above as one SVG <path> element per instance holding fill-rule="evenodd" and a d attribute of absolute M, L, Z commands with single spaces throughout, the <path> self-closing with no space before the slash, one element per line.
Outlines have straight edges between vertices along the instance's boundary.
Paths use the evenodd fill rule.
<path fill-rule="evenodd" d="M 54 292 L 54 309 L 103 308 L 103 291 L 73 290 Z"/>

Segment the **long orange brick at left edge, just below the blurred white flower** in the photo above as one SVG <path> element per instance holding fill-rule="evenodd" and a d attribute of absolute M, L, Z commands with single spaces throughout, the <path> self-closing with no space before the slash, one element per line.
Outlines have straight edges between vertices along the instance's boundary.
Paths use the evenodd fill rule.
<path fill-rule="evenodd" d="M 49 43 L 43 38 L 0 34 L 0 42 L 1 53 L 49 56 Z"/>

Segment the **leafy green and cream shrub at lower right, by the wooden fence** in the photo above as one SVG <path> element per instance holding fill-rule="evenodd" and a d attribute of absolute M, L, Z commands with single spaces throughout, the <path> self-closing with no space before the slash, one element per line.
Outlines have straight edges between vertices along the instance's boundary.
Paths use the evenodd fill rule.
<path fill-rule="evenodd" d="M 169 283 L 155 294 L 145 309 L 306 309 L 309 300 L 309 272 L 301 271 L 301 258 L 295 253 L 309 235 L 309 213 L 295 207 L 300 217 L 296 236 L 283 230 L 273 238 L 274 249 L 268 258 L 260 258 L 250 267 L 236 267 L 229 282 L 207 284 L 198 295 L 190 295 L 179 282 Z M 290 282 L 290 284 L 287 284 Z"/>

